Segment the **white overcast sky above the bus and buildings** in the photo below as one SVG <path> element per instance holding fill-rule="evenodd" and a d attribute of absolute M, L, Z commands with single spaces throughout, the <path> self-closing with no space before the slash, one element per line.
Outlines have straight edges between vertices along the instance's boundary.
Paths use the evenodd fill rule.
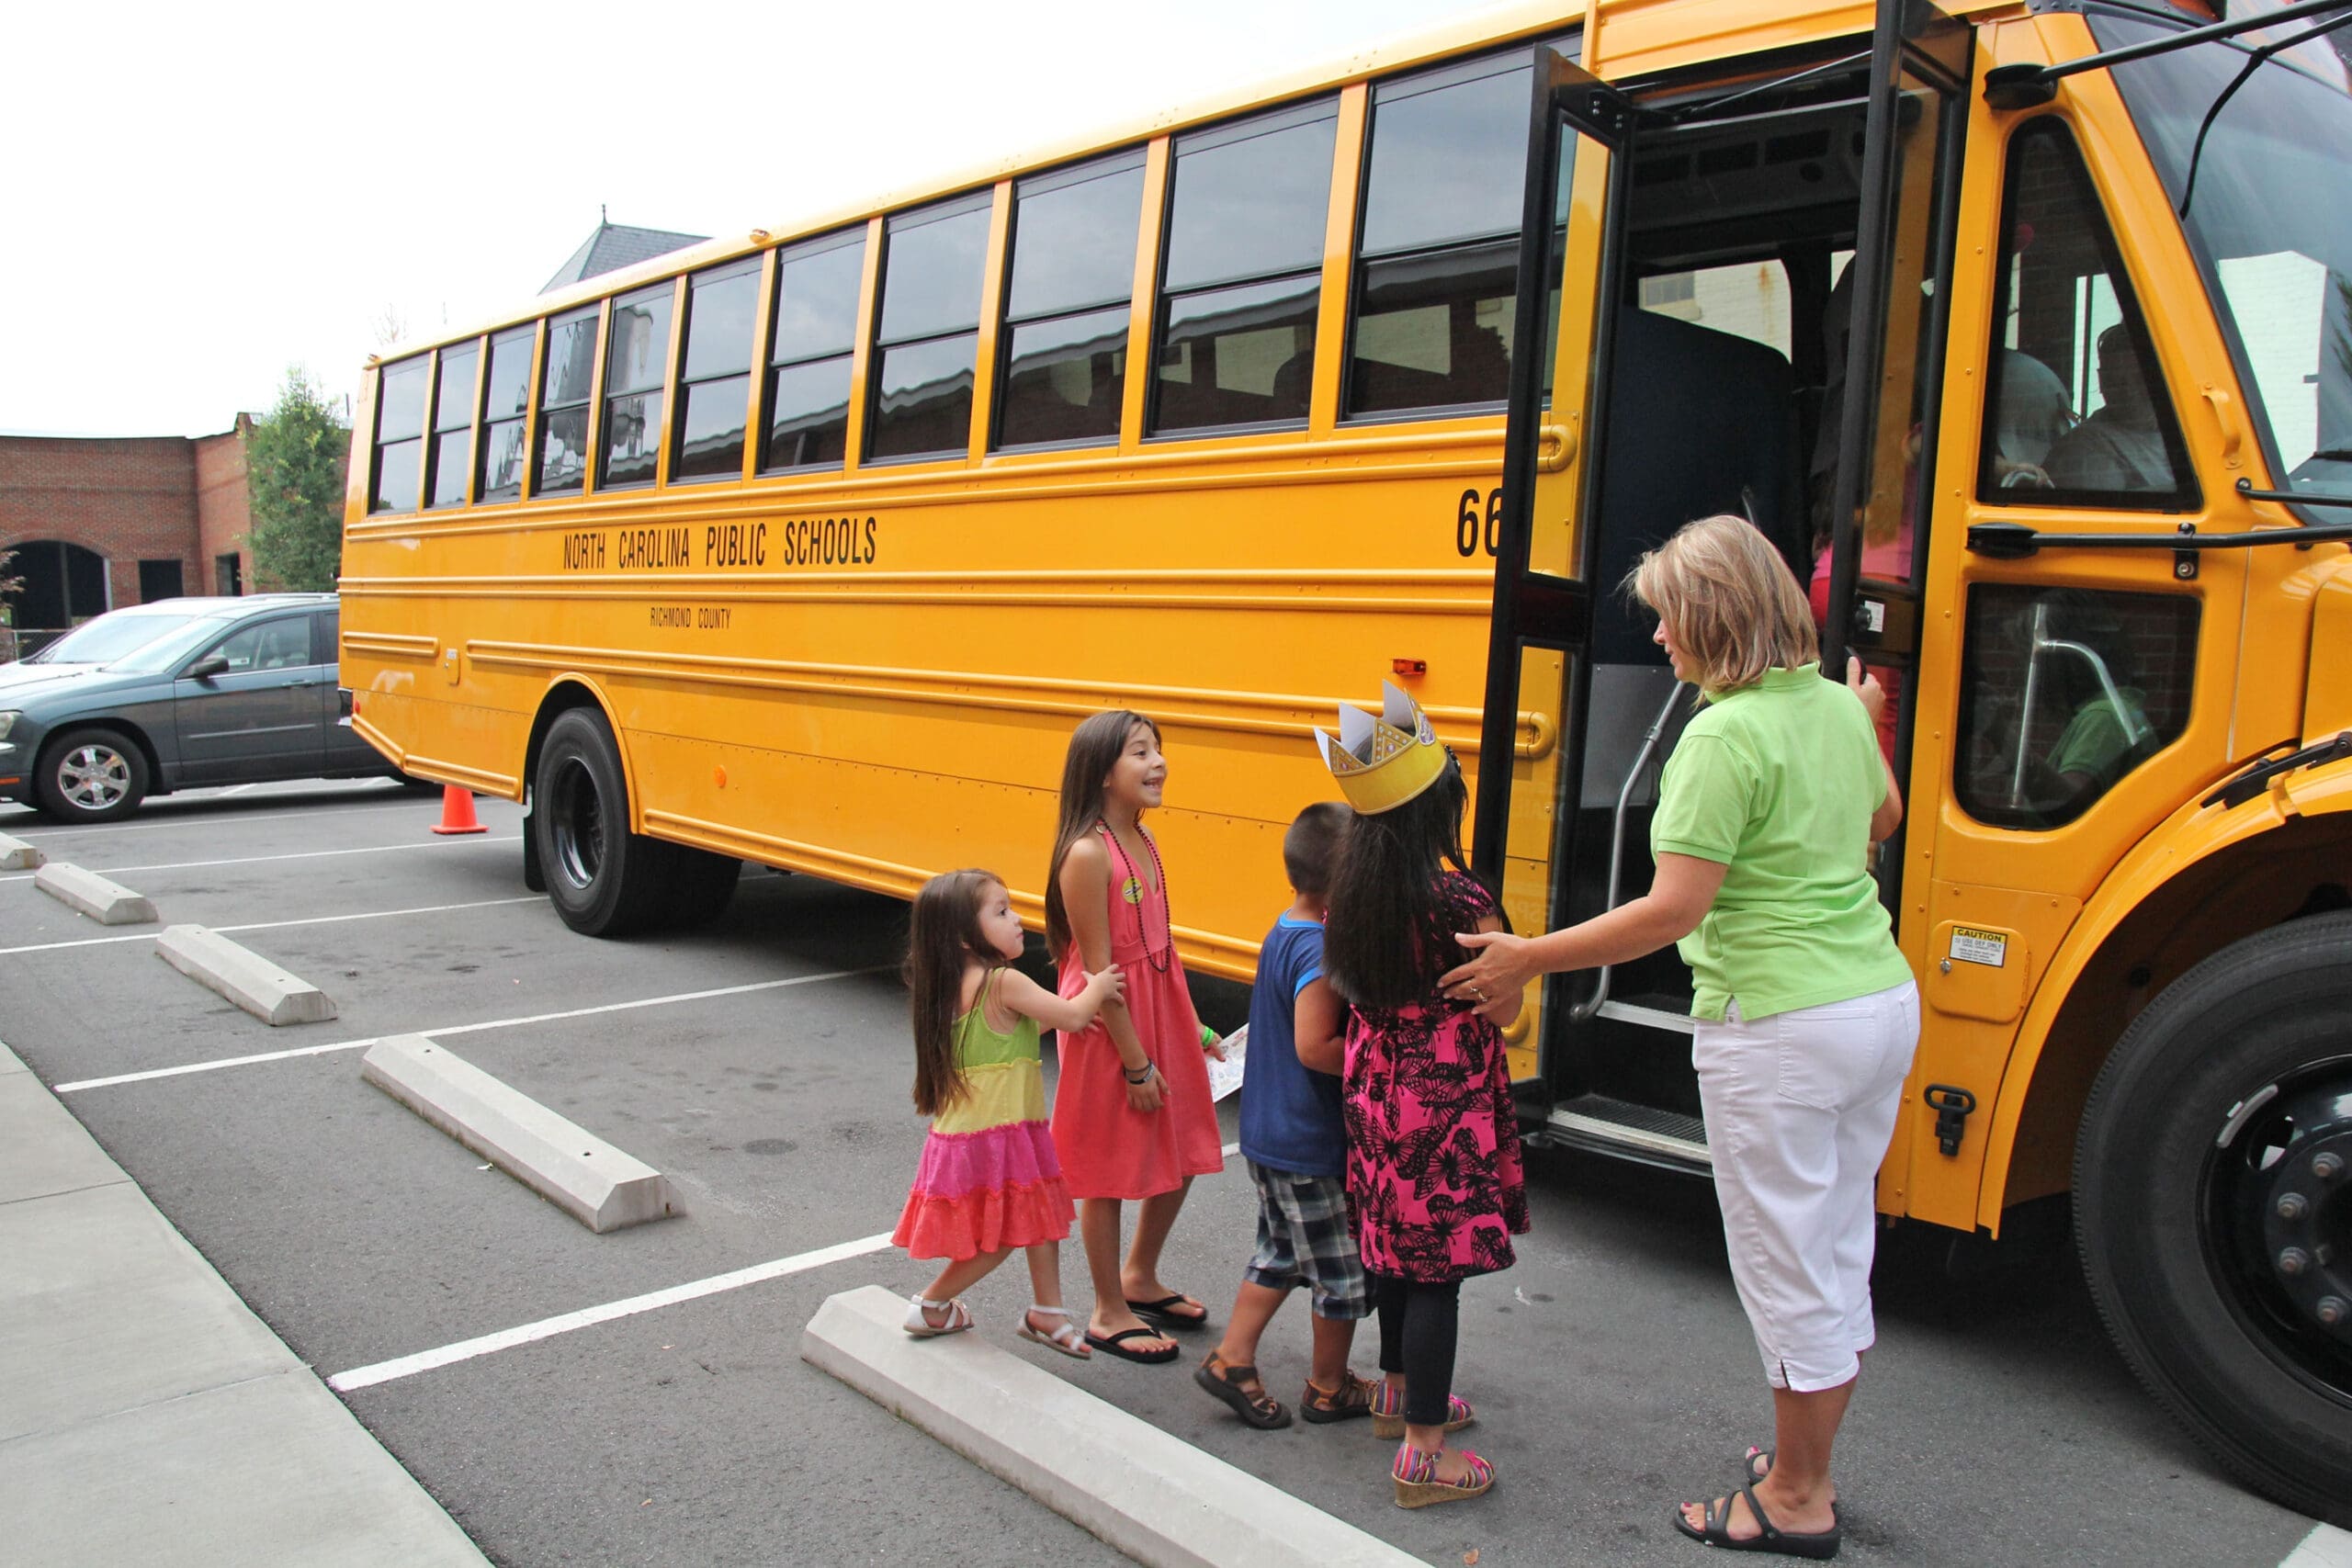
<path fill-rule="evenodd" d="M 1491 0 L 24 5 L 0 92 L 0 433 L 341 402 L 614 223 L 748 233 Z M 1566 7 L 1564 7 L 1566 9 Z"/>

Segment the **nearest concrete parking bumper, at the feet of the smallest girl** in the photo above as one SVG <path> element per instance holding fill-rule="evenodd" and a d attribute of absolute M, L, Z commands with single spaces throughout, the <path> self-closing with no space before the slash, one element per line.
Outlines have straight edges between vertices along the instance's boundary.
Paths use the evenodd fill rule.
<path fill-rule="evenodd" d="M 915 1340 L 903 1321 L 889 1291 L 844 1291 L 809 1319 L 800 1356 L 1138 1563 L 1421 1563 L 974 1333 Z"/>

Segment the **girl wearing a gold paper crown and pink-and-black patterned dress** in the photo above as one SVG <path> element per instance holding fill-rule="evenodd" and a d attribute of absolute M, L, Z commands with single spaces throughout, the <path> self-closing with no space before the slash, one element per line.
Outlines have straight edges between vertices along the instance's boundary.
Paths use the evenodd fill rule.
<path fill-rule="evenodd" d="M 1324 764 L 1355 806 L 1331 877 L 1324 978 L 1355 1011 L 1345 1074 L 1348 1201 L 1381 1319 L 1378 1436 L 1402 1436 L 1390 1467 L 1399 1507 L 1458 1502 L 1494 1486 L 1494 1465 L 1446 1434 L 1475 1415 L 1454 1394 L 1461 1281 L 1512 1265 L 1526 1232 L 1519 1121 L 1498 1025 L 1449 1001 L 1439 976 L 1458 931 L 1503 931 L 1494 893 L 1463 863 L 1468 790 L 1421 708 L 1388 686 L 1383 717 L 1341 708 L 1341 738 L 1317 731 Z"/>

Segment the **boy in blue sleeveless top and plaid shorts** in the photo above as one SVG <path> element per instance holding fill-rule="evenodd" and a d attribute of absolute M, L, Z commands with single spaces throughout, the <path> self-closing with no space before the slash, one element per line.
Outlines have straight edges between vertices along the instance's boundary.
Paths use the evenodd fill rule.
<path fill-rule="evenodd" d="M 1298 1410 L 1310 1422 L 1371 1415 L 1371 1385 L 1348 1371 L 1355 1324 L 1371 1314 L 1364 1265 L 1348 1225 L 1348 1121 L 1341 1044 L 1348 1011 L 1322 978 L 1324 898 L 1350 811 L 1308 806 L 1282 837 L 1296 898 L 1265 933 L 1249 992 L 1242 1065 L 1242 1159 L 1258 1187 L 1258 1251 L 1223 1342 L 1192 1382 L 1251 1427 L 1289 1427 L 1291 1413 L 1258 1380 L 1258 1335 L 1291 1288 L 1315 1291 L 1315 1359 Z"/>

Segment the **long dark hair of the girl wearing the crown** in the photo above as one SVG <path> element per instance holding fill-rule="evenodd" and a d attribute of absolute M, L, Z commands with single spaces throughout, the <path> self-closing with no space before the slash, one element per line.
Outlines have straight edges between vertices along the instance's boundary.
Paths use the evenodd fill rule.
<path fill-rule="evenodd" d="M 1421 1001 L 1437 976 L 1468 957 L 1437 886 L 1446 870 L 1470 872 L 1468 804 L 1461 764 L 1446 757 L 1446 771 L 1428 790 L 1392 811 L 1357 813 L 1348 825 L 1331 872 L 1324 976 L 1355 1006 Z"/>

